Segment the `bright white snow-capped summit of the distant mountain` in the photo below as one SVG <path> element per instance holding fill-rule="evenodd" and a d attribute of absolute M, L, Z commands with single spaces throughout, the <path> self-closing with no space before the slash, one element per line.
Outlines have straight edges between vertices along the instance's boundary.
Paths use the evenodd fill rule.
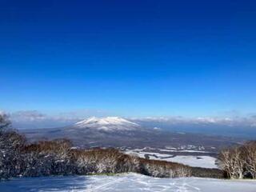
<path fill-rule="evenodd" d="M 95 130 L 136 130 L 140 127 L 137 123 L 130 122 L 125 118 L 107 117 L 107 118 L 86 118 L 81 122 L 74 124 L 76 128 L 93 128 Z"/>

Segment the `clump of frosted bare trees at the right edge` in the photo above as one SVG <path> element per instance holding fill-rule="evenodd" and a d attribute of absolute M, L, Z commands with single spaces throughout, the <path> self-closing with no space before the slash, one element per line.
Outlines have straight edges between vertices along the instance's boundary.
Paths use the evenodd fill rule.
<path fill-rule="evenodd" d="M 222 150 L 218 157 L 219 167 L 228 178 L 256 178 L 256 142 L 246 142 Z"/>

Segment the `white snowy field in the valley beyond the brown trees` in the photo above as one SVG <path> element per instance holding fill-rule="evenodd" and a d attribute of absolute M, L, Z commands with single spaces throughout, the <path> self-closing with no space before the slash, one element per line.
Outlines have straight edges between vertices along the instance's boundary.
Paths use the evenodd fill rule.
<path fill-rule="evenodd" d="M 137 154 L 140 158 L 145 158 L 146 154 L 149 154 L 150 159 L 166 161 L 166 162 L 179 162 L 186 166 L 198 166 L 204 168 L 218 168 L 215 164 L 216 158 L 202 155 L 202 156 L 194 156 L 194 155 L 172 155 L 172 154 L 159 154 L 152 152 L 143 152 L 136 150 L 126 150 L 125 154 Z M 256 192 L 256 190 L 255 190 Z"/>

